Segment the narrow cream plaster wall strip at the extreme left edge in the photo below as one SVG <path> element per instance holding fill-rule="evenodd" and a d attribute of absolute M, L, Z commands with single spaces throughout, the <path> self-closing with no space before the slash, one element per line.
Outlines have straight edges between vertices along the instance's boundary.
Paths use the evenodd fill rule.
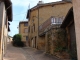
<path fill-rule="evenodd" d="M 4 3 L 0 4 L 0 60 L 2 60 L 2 47 L 3 47 L 3 29 L 4 29 L 4 20 L 5 20 L 5 6 Z"/>

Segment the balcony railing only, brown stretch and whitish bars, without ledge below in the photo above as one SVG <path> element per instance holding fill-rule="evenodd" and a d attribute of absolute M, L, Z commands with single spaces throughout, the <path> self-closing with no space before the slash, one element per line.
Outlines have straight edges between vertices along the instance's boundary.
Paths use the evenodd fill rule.
<path fill-rule="evenodd" d="M 61 17 L 51 17 L 48 20 L 46 20 L 43 24 L 39 26 L 39 34 L 45 31 L 45 29 L 49 28 L 52 25 L 60 25 L 62 24 L 62 18 Z"/>

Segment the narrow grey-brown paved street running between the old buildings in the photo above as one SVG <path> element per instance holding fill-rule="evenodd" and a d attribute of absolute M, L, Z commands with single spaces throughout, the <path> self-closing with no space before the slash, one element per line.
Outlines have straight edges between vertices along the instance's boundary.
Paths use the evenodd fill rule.
<path fill-rule="evenodd" d="M 8 43 L 7 51 L 4 60 L 59 60 L 57 57 L 52 57 L 45 54 L 43 51 L 38 51 L 34 48 L 13 47 L 11 43 Z"/>

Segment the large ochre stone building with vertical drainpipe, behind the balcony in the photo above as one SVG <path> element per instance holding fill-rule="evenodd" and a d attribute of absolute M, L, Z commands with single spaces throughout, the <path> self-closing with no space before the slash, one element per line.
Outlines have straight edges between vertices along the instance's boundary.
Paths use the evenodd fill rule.
<path fill-rule="evenodd" d="M 27 18 L 29 28 L 29 45 L 31 47 L 45 50 L 45 34 L 41 33 L 41 29 L 44 29 L 48 23 L 48 19 L 51 17 L 63 18 L 66 16 L 68 10 L 72 7 L 72 3 L 69 1 L 39 3 L 33 8 L 28 10 Z M 47 23 L 45 23 L 47 21 Z M 51 22 L 51 20 L 49 21 Z M 42 28 L 42 25 L 44 27 Z"/>

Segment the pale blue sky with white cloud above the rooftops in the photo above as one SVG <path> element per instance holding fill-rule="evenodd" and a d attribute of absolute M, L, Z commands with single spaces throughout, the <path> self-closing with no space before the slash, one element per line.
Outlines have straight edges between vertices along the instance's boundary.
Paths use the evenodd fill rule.
<path fill-rule="evenodd" d="M 13 21 L 10 22 L 10 32 L 8 35 L 14 36 L 19 33 L 19 22 L 28 21 L 26 19 L 27 10 L 37 5 L 40 0 L 11 0 Z M 42 0 L 44 3 L 56 2 L 61 0 Z M 30 7 L 29 7 L 30 6 Z"/>

